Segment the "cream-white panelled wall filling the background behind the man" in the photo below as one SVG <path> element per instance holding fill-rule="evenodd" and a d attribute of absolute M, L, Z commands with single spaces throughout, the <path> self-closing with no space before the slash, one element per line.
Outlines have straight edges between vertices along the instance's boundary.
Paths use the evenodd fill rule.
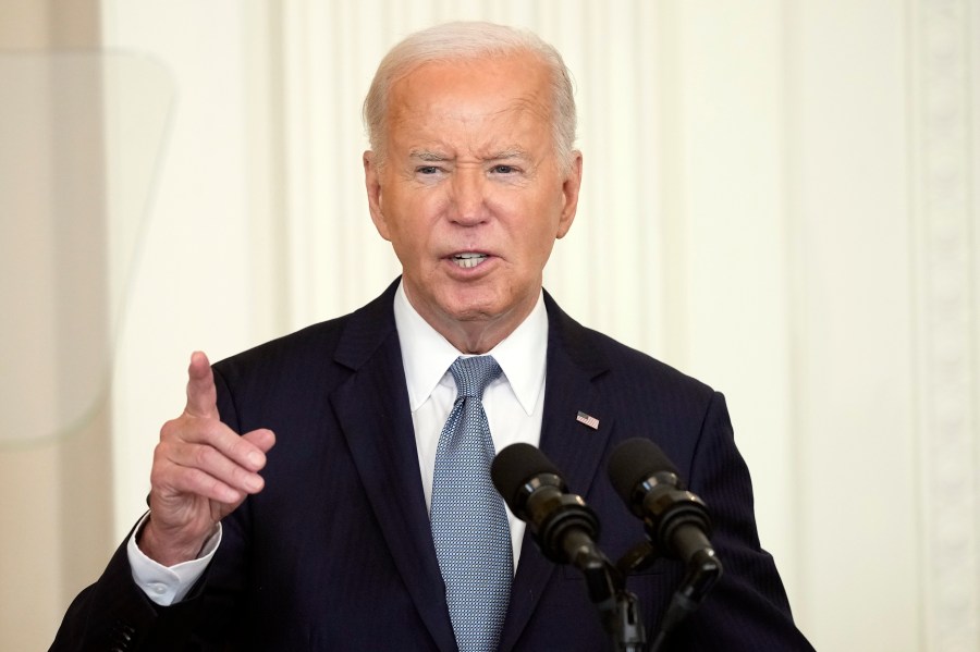
<path fill-rule="evenodd" d="M 57 359 L 53 371 L 29 356 L 2 366 L 10 386 L 87 378 L 106 416 L 0 440 L 0 517 L 16 532 L 0 541 L 0 648 L 44 648 L 142 513 L 192 350 L 218 359 L 340 315 L 397 273 L 364 200 L 360 101 L 407 32 L 487 19 L 541 34 L 577 83 L 583 204 L 547 287 L 584 323 L 726 394 L 800 628 L 819 650 L 980 650 L 978 9 L 103 0 L 78 17 L 66 3 L 0 5 L 0 45 L 19 52 L 65 46 L 5 26 L 98 25 L 81 45 L 107 62 L 101 137 L 51 151 L 101 151 L 83 169 L 106 189 L 103 219 L 83 231 L 103 237 L 65 231 L 71 201 L 41 211 L 5 183 L 0 246 L 4 259 L 53 260 L 30 276 L 45 305 L 105 293 L 82 302 L 103 317 L 72 342 L 112 370 L 107 390 L 98 364 L 73 362 L 71 377 Z M 22 164 L 7 156 L 10 179 Z M 23 246 L 34 223 L 42 235 Z M 64 291 L 50 279 L 54 242 L 84 247 L 105 274 L 68 274 Z M 14 285 L 2 286 L 3 339 L 63 347 L 64 333 L 24 325 Z"/>

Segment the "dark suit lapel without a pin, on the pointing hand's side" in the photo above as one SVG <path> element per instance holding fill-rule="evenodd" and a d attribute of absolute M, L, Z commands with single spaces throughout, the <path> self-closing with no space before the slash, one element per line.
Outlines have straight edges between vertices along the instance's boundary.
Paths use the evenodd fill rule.
<path fill-rule="evenodd" d="M 354 372 L 330 402 L 405 587 L 439 649 L 452 651 L 394 328 L 395 286 L 352 316 L 335 359 Z"/>

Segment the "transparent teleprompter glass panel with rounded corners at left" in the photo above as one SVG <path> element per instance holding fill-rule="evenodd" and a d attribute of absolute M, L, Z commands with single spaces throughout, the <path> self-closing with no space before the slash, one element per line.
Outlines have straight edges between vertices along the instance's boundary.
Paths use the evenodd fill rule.
<path fill-rule="evenodd" d="M 173 100 L 144 57 L 0 52 L 0 445 L 105 397 Z"/>

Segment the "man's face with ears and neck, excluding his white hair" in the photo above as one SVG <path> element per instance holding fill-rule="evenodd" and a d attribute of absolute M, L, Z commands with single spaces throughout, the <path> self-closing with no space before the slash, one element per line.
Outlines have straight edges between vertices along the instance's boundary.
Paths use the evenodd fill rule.
<path fill-rule="evenodd" d="M 534 58 L 426 64 L 392 87 L 384 160 L 365 153 L 371 219 L 402 262 L 409 302 L 482 353 L 537 302 L 581 179 L 562 173 L 546 69 Z"/>

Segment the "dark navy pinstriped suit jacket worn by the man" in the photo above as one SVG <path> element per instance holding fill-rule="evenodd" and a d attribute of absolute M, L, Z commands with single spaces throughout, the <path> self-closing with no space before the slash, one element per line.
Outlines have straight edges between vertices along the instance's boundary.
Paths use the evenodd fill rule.
<path fill-rule="evenodd" d="M 392 303 L 360 310 L 215 366 L 222 419 L 271 428 L 266 489 L 223 522 L 188 598 L 154 605 L 124 546 L 72 604 L 53 650 L 455 650 L 429 530 Z M 605 465 L 649 436 L 709 505 L 725 575 L 671 637 L 674 650 L 810 650 L 793 625 L 772 558 L 759 548 L 748 469 L 724 398 L 583 328 L 546 294 L 548 371 L 541 448 L 599 514 L 613 559 L 644 539 Z M 576 421 L 581 410 L 598 430 Z M 681 581 L 662 559 L 629 579 L 652 640 Z M 501 650 L 611 649 L 584 581 L 526 539 Z"/>

